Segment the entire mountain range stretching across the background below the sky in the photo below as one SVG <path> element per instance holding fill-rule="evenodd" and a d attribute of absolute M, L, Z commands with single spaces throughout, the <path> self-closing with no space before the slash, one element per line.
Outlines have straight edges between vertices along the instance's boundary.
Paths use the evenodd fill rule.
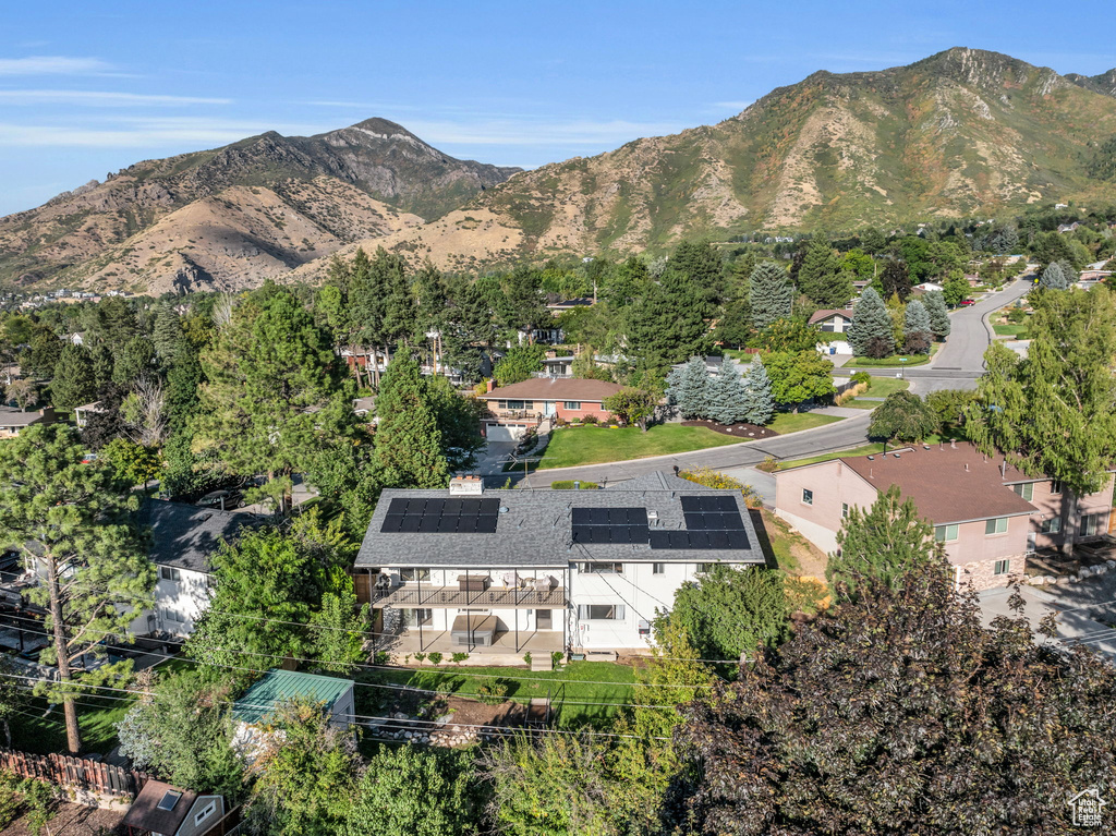
<path fill-rule="evenodd" d="M 968 48 L 815 73 L 716 125 L 528 172 L 368 119 L 140 163 L 0 219 L 0 280 L 237 288 L 320 276 L 358 246 L 453 269 L 1110 203 L 1113 183 L 1089 172 L 1113 136 L 1116 69 L 1060 76 Z"/>

